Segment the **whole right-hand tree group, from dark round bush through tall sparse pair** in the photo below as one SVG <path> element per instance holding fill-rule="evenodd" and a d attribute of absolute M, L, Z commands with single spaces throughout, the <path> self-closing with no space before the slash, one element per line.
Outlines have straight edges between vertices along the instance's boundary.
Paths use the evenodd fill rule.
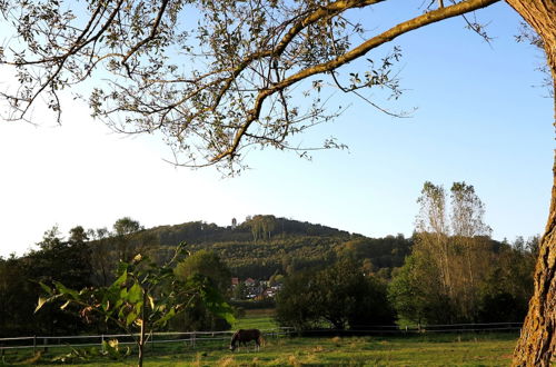
<path fill-rule="evenodd" d="M 539 238 L 490 238 L 475 188 L 448 195 L 425 182 L 413 247 L 401 266 L 383 271 L 365 258 L 365 240 L 344 244 L 337 261 L 286 278 L 277 319 L 299 328 L 357 329 L 397 324 L 519 323 L 533 295 Z M 336 295 L 336 297 L 335 297 Z"/>

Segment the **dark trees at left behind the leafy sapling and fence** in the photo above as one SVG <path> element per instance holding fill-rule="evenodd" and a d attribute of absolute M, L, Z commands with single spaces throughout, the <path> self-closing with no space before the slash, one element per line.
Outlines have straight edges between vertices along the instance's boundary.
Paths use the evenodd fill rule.
<path fill-rule="evenodd" d="M 173 261 L 159 278 L 151 279 L 165 264 L 176 260 L 176 248 L 160 248 L 151 241 L 152 236 L 139 222 L 122 218 L 116 221 L 112 231 L 86 231 L 80 226 L 75 227 L 68 239 L 63 239 L 54 227 L 44 232 L 37 249 L 21 257 L 0 257 L 0 337 L 109 334 L 121 331 L 122 325 L 131 330 L 135 324 L 122 324 L 111 314 L 99 317 L 92 305 L 85 307 L 82 295 L 90 301 L 98 297 L 99 289 L 103 289 L 106 294 L 96 307 L 107 299 L 122 297 L 105 306 L 128 305 L 121 315 L 132 320 L 129 305 L 133 300 L 133 307 L 146 307 L 146 301 L 137 297 L 138 287 L 148 282 L 152 282 L 156 289 L 152 291 L 158 297 L 172 294 L 170 285 L 181 285 L 179 292 L 183 295 L 178 298 L 182 309 L 176 313 L 180 317 L 172 317 L 171 323 L 170 318 L 165 319 L 160 328 L 181 331 L 229 328 L 229 320 L 214 309 L 218 306 L 222 313 L 230 311 L 226 306 L 230 278 L 226 265 L 212 252 L 183 250 L 179 261 Z M 206 275 L 207 269 L 210 269 L 210 277 Z M 175 280 L 161 287 L 170 278 Z M 48 294 L 53 296 L 51 302 L 44 301 Z M 70 296 L 69 304 L 57 300 L 61 294 Z M 153 301 L 155 298 L 151 305 Z M 158 308 L 166 309 L 165 315 L 170 311 L 166 306 Z M 135 317 L 139 318 L 139 314 L 137 311 Z"/>

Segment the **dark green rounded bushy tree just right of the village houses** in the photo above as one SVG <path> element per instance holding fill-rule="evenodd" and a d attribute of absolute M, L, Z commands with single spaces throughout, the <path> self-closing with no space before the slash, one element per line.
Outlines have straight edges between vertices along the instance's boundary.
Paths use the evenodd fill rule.
<path fill-rule="evenodd" d="M 306 270 L 286 279 L 276 300 L 280 325 L 310 329 L 366 329 L 394 324 L 386 286 L 365 276 L 353 260 L 340 260 L 321 270 Z"/>

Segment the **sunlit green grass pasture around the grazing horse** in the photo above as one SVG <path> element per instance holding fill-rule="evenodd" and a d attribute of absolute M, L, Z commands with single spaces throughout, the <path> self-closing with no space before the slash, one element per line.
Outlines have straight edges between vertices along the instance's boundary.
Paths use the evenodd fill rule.
<path fill-rule="evenodd" d="M 252 310 L 234 328 L 275 327 L 268 310 Z M 424 334 L 404 337 L 271 337 L 259 351 L 240 348 L 230 353 L 228 340 L 183 343 L 147 348 L 145 366 L 507 366 L 516 334 Z M 56 366 L 50 350 L 34 366 Z M 60 354 L 61 350 L 58 351 Z M 27 356 L 26 356 L 27 355 Z M 4 365 L 30 365 L 29 351 L 4 356 Z M 0 363 L 1 365 L 1 363 Z M 61 365 L 61 364 L 60 364 Z M 109 359 L 73 360 L 63 366 L 133 366 L 133 356 L 122 361 Z"/>

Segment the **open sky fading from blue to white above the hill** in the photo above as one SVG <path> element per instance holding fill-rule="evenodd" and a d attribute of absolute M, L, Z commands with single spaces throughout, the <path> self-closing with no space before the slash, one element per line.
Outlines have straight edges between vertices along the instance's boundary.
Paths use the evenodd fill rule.
<path fill-rule="evenodd" d="M 409 17 L 393 3 L 353 17 L 377 29 Z M 370 237 L 410 236 L 427 180 L 473 185 L 495 239 L 542 234 L 554 157 L 554 105 L 535 70 L 543 59 L 515 42 L 519 18 L 506 3 L 478 16 L 489 23 L 490 44 L 460 18 L 398 38 L 405 92 L 385 103 L 417 110 L 397 119 L 337 96 L 350 107 L 302 139 L 334 136 L 349 149 L 316 152 L 311 161 L 254 150 L 251 169 L 235 178 L 176 168 L 158 137 L 113 133 L 75 101 L 61 126 L 41 116 L 37 126 L 0 121 L 0 256 L 36 248 L 52 226 L 63 235 L 78 225 L 110 229 L 125 216 L 150 228 L 228 226 L 267 214 Z"/>

